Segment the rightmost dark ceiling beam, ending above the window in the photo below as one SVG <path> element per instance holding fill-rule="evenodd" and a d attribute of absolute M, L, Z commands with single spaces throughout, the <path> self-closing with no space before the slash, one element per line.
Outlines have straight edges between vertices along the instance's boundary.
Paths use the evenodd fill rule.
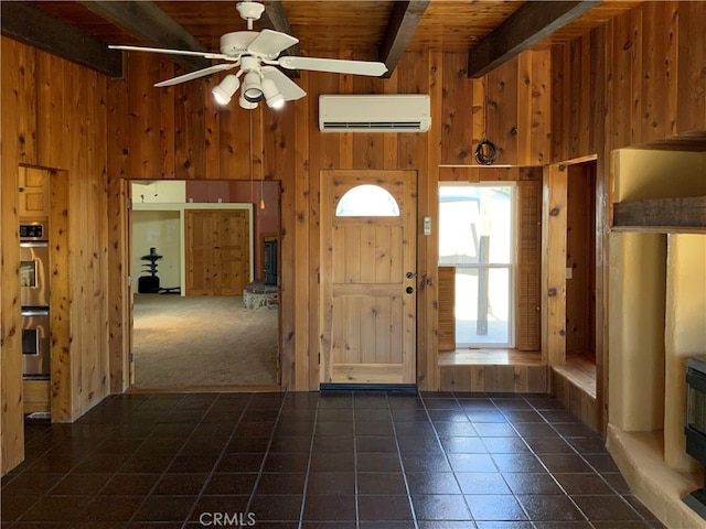
<path fill-rule="evenodd" d="M 531 1 L 473 46 L 468 57 L 468 76 L 479 78 L 515 55 L 534 46 L 559 28 L 576 20 L 600 1 Z"/>

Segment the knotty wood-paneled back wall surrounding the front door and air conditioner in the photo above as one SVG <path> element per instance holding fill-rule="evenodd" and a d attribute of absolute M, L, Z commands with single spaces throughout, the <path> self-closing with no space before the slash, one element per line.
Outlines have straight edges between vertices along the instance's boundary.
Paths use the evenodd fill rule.
<path fill-rule="evenodd" d="M 217 107 L 210 94 L 217 78 L 156 89 L 151 86 L 156 80 L 178 72 L 165 71 L 158 57 L 130 53 L 126 78 L 111 80 L 108 88 L 115 96 L 109 99 L 109 136 L 115 145 L 108 154 L 108 187 L 116 190 L 110 193 L 110 210 L 120 212 L 116 204 L 121 199 L 121 179 L 280 181 L 282 380 L 289 389 L 315 389 L 320 171 L 416 170 L 419 223 L 424 216 L 436 218 L 439 165 L 475 164 L 473 151 L 482 138 L 498 144 L 499 162 L 530 165 L 548 156 L 549 57 L 548 52 L 527 53 L 493 73 L 492 79 L 479 82 L 467 78 L 467 57 L 452 54 L 407 54 L 389 79 L 302 72 L 297 82 L 307 97 L 278 112 L 266 107 L 245 111 L 237 104 Z M 523 90 L 531 91 L 528 101 Z M 429 94 L 431 131 L 321 133 L 318 96 L 340 93 Z M 521 112 L 531 116 L 521 118 Z M 110 228 L 115 241 L 120 240 L 121 223 L 117 218 Z M 436 235 L 420 235 L 418 248 L 418 382 L 422 389 L 436 389 Z M 118 242 L 116 251 L 118 259 L 127 249 Z M 121 307 L 127 303 L 125 281 L 124 272 L 111 269 L 114 390 L 119 389 L 118 380 L 126 380 L 125 361 L 114 349 L 127 350 L 129 339 L 125 330 L 119 332 Z"/>

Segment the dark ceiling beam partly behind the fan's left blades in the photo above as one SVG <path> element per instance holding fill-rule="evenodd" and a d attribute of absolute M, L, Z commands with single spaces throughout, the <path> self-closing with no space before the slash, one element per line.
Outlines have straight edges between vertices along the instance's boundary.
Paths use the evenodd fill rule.
<path fill-rule="evenodd" d="M 119 2 L 82 0 L 78 3 L 147 46 L 212 52 L 151 0 Z M 172 57 L 188 71 L 211 66 L 211 61 L 199 56 L 172 55 Z"/>

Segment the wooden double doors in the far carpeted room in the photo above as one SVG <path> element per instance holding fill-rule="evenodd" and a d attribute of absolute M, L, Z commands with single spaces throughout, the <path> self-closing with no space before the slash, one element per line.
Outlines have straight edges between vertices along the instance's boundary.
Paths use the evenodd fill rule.
<path fill-rule="evenodd" d="M 186 209 L 186 294 L 243 295 L 249 281 L 249 212 Z"/>

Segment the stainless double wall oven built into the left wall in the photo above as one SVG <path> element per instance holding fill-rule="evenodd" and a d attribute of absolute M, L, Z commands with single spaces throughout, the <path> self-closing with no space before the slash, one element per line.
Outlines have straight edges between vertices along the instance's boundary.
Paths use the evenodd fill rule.
<path fill-rule="evenodd" d="M 20 224 L 22 373 L 25 379 L 50 377 L 49 230 L 46 223 Z"/>

